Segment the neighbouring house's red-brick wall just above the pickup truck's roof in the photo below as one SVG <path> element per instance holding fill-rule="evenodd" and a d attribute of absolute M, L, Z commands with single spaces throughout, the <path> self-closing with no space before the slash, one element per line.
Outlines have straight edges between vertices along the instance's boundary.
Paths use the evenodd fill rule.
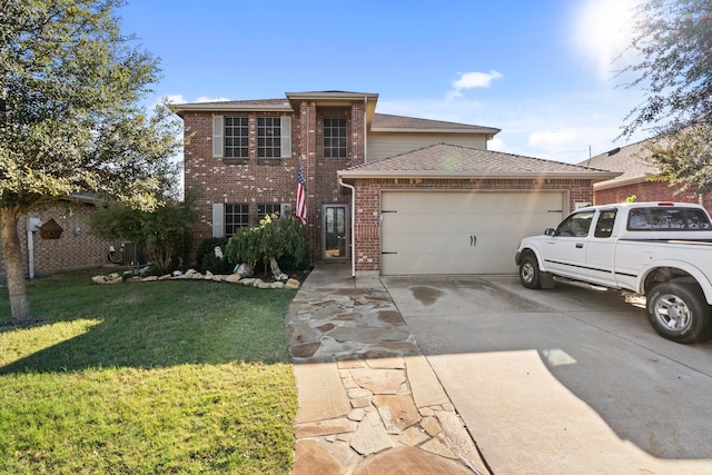
<path fill-rule="evenodd" d="M 680 201 L 702 204 L 708 212 L 712 212 L 712 194 L 706 195 L 702 201 L 695 194 L 678 192 L 679 187 L 671 187 L 666 181 L 649 180 L 630 184 L 615 188 L 595 190 L 594 202 L 596 205 L 610 205 L 625 202 L 625 199 L 635 195 L 635 200 L 641 201 Z"/>

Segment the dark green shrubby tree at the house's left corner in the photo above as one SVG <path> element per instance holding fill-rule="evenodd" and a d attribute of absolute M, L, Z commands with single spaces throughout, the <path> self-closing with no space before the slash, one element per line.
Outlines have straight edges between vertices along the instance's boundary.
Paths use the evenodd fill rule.
<path fill-rule="evenodd" d="M 107 239 L 126 239 L 141 245 L 148 260 L 165 274 L 177 257 L 185 257 L 192 230 L 194 199 L 167 199 L 152 210 L 140 210 L 112 201 L 89 218 L 93 234 Z"/>

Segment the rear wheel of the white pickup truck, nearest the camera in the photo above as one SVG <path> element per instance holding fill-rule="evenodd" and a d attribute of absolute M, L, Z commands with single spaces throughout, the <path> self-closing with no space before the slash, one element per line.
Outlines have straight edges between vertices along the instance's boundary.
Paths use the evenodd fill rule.
<path fill-rule="evenodd" d="M 700 343 L 712 336 L 710 307 L 696 284 L 659 284 L 647 295 L 647 320 L 659 335 L 678 343 Z"/>

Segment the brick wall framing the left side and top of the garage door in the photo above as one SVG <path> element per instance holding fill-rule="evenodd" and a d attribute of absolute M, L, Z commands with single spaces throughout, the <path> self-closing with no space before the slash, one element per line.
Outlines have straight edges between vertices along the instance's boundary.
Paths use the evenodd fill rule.
<path fill-rule="evenodd" d="M 355 246 L 357 273 L 380 270 L 380 195 L 398 189 L 462 189 L 462 190 L 567 190 L 568 207 L 576 202 L 592 202 L 591 180 L 581 179 L 357 179 L 355 225 L 352 243 Z"/>

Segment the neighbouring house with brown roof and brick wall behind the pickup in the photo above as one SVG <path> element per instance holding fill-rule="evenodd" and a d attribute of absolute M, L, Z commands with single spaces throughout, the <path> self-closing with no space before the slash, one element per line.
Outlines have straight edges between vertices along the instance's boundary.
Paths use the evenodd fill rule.
<path fill-rule="evenodd" d="M 712 195 L 700 197 L 688 191 L 681 192 L 679 186 L 671 186 L 661 178 L 659 169 L 649 161 L 651 141 L 652 139 L 647 139 L 614 148 L 578 164 L 621 172 L 613 179 L 599 181 L 593 186 L 594 204 L 624 202 L 634 196 L 636 201 L 698 202 L 712 211 Z"/>

